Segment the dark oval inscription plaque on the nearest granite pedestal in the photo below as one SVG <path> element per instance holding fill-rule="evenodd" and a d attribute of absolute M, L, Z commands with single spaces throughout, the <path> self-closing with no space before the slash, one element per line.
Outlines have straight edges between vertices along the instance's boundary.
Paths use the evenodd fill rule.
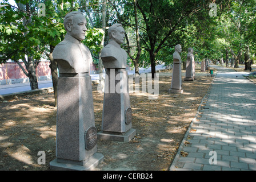
<path fill-rule="evenodd" d="M 97 129 L 91 126 L 85 133 L 85 148 L 91 150 L 97 144 Z"/>

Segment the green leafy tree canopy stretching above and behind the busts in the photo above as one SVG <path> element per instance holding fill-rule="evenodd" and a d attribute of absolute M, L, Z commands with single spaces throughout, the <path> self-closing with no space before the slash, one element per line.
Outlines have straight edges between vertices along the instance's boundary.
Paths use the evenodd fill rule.
<path fill-rule="evenodd" d="M 114 23 L 122 23 L 126 30 L 123 48 L 128 61 L 135 68 L 150 65 L 153 75 L 156 64 L 172 63 L 176 44 L 182 45 L 184 55 L 192 47 L 197 61 L 223 58 L 229 63 L 234 59 L 238 67 L 239 61 L 254 60 L 254 0 L 15 0 L 16 6 L 0 2 L 0 63 L 23 60 L 27 76 L 39 60 L 50 59 L 54 46 L 63 40 L 63 18 L 70 11 L 86 16 L 83 43 L 95 64 L 108 42 L 107 27 Z M 38 15 L 38 3 L 45 4 L 45 16 Z M 215 14 L 211 3 L 216 5 Z"/>

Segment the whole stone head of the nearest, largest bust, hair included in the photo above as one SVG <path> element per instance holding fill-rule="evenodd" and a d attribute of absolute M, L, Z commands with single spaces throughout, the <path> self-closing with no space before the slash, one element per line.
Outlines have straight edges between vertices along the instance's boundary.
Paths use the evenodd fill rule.
<path fill-rule="evenodd" d="M 67 33 L 77 40 L 85 39 L 86 19 L 79 11 L 72 11 L 65 16 L 64 27 Z"/>

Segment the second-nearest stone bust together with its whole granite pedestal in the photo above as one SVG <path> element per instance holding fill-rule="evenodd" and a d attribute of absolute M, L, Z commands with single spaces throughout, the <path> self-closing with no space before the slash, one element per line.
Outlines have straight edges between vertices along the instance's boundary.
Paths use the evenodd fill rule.
<path fill-rule="evenodd" d="M 135 136 L 136 130 L 131 128 L 132 111 L 126 71 L 127 53 L 121 48 L 125 40 L 122 24 L 117 23 L 109 27 L 108 35 L 109 44 L 101 51 L 106 75 L 102 131 L 98 133 L 98 138 L 129 142 Z"/>

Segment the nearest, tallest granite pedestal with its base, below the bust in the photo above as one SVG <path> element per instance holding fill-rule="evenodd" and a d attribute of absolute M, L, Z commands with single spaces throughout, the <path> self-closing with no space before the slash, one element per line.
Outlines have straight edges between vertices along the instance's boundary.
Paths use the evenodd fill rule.
<path fill-rule="evenodd" d="M 91 170 L 102 160 L 97 153 L 93 94 L 89 73 L 65 73 L 58 78 L 57 159 L 54 170 Z"/>

